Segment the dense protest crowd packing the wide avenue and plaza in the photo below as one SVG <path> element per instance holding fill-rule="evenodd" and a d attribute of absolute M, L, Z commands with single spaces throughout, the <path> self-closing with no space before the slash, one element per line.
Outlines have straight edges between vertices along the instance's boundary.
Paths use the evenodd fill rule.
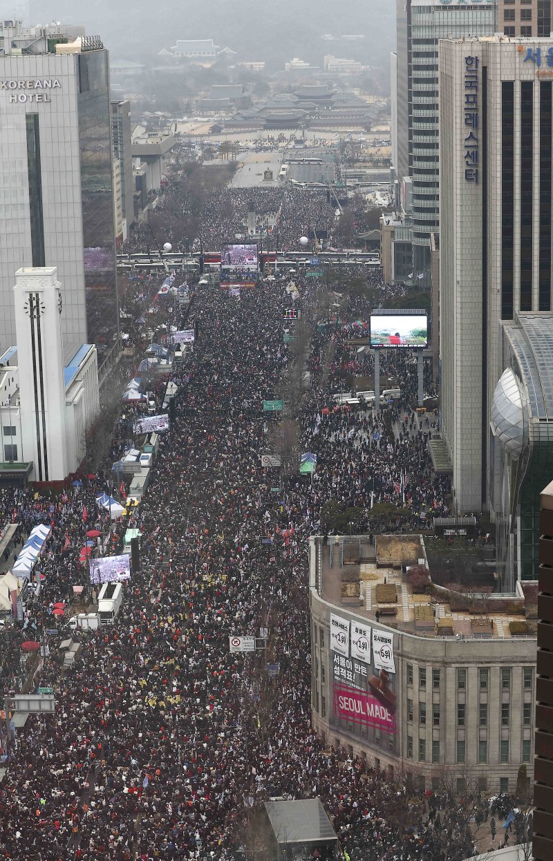
<path fill-rule="evenodd" d="M 245 195 L 233 206 L 243 208 Z M 300 205 L 293 191 L 286 195 L 286 208 Z M 304 204 L 308 226 L 305 193 Z M 291 242 L 281 229 L 281 241 Z M 220 240 L 216 206 L 206 231 L 210 243 Z M 370 277 L 383 296 L 382 278 Z M 296 282 L 297 304 L 314 319 L 320 284 Z M 388 783 L 311 727 L 308 536 L 324 528 L 321 506 L 354 505 L 375 529 L 371 502 L 390 502 L 408 510 L 398 526 L 409 530 L 421 511 L 447 511 L 448 488 L 432 474 L 434 419 L 415 418 L 416 374 L 403 357 L 386 359 L 384 370 L 401 382 L 387 419 L 332 405 L 330 388 L 345 375 L 370 373 L 370 356 L 345 344 L 355 336 L 352 318 L 314 329 L 311 339 L 310 387 L 297 416 L 301 451 L 318 455 L 313 481 L 291 474 L 271 491 L 279 482 L 260 455 L 280 417 L 262 403 L 275 396 L 291 357 L 284 286 L 264 282 L 239 299 L 217 289 L 196 295 L 187 325 L 197 321 L 200 337 L 171 374 L 175 418 L 146 496 L 115 528 L 96 505 L 101 472 L 56 499 L 0 493 L 3 523 L 20 523 L 21 540 L 36 523 L 52 526 L 36 572 L 40 592 L 0 634 L 0 683 L 18 691 L 20 644 L 35 638 L 48 646 L 40 685 L 53 687 L 57 703 L 53 715 L 29 715 L 15 737 L 3 737 L 0 858 L 263 858 L 252 854 L 263 847 L 258 816 L 275 796 L 319 796 L 351 861 L 461 861 L 474 852 L 451 798 Z M 146 283 L 137 289 L 147 291 Z M 356 311 L 354 302 L 350 318 Z M 79 561 L 86 532 L 98 530 L 109 554 L 121 550 L 127 527 L 141 533 L 140 571 L 124 585 L 114 624 L 71 634 L 82 651 L 62 669 L 57 647 L 70 635 L 69 609 L 56 615 L 53 605 L 69 604 L 74 585 L 88 587 Z M 266 657 L 279 666 L 274 678 L 263 654 L 229 653 L 230 635 L 262 627 Z"/>

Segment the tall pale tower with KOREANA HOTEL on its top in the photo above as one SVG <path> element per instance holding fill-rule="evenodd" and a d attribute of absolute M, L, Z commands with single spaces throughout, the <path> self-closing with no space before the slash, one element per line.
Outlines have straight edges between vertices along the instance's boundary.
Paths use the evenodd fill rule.
<path fill-rule="evenodd" d="M 120 348 L 108 52 L 58 29 L 4 35 L 0 55 L 0 347 L 16 270 L 57 265 L 65 356 L 96 344 L 103 379 Z"/>

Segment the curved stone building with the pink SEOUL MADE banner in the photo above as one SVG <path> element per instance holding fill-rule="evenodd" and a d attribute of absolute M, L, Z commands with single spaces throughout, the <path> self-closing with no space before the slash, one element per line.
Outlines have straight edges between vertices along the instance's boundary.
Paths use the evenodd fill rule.
<path fill-rule="evenodd" d="M 415 609 L 422 603 L 401 564 L 382 563 L 378 539 L 376 553 L 379 561 L 367 536 L 310 538 L 314 728 L 389 778 L 407 772 L 427 788 L 462 793 L 469 780 L 514 792 L 519 765 L 533 773 L 536 638 L 510 636 L 507 612 L 485 621 L 445 613 L 437 622 Z M 415 564 L 419 554 L 422 540 Z M 344 588 L 357 579 L 358 598 Z M 382 587 L 396 603 L 382 602 Z"/>

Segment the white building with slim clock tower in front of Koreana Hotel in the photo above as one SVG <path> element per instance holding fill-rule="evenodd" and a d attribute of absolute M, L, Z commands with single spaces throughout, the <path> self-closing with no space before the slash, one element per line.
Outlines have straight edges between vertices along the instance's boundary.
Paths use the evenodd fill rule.
<path fill-rule="evenodd" d="M 17 346 L 0 356 L 0 481 L 16 467 L 63 481 L 84 458 L 99 410 L 96 347 L 81 344 L 65 364 L 65 294 L 55 266 L 16 272 Z"/>

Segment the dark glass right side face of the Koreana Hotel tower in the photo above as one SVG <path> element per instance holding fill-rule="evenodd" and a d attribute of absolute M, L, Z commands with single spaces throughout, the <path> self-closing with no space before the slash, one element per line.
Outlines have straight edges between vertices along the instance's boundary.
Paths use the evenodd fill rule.
<path fill-rule="evenodd" d="M 86 320 L 101 367 L 119 327 L 107 52 L 80 54 L 78 76 Z"/>

